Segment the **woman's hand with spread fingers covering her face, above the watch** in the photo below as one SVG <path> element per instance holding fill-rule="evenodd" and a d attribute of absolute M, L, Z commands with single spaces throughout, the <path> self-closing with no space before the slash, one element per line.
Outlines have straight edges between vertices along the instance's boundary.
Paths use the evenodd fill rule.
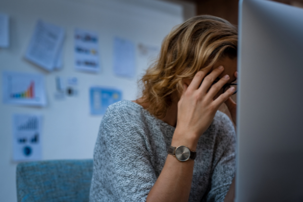
<path fill-rule="evenodd" d="M 211 125 L 220 105 L 233 94 L 235 89 L 230 88 L 217 99 L 213 99 L 229 80 L 229 76 L 225 75 L 213 85 L 223 70 L 223 66 L 220 66 L 209 75 L 209 70 L 201 70 L 196 73 L 189 86 L 183 84 L 176 126 L 176 130 L 181 131 L 181 134 L 199 138 Z"/>

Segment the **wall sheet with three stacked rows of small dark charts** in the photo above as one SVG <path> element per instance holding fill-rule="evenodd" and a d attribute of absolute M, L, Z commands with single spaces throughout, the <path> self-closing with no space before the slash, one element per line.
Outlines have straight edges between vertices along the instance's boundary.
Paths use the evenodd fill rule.
<path fill-rule="evenodd" d="M 75 29 L 74 38 L 75 69 L 100 71 L 98 35 L 91 31 Z"/>

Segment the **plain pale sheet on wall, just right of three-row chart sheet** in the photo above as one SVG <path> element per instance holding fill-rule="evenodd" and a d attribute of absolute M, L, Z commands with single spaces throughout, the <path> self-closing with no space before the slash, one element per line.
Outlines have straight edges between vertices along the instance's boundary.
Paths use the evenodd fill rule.
<path fill-rule="evenodd" d="M 132 41 L 115 37 L 113 69 L 117 76 L 135 77 L 135 44 Z"/>

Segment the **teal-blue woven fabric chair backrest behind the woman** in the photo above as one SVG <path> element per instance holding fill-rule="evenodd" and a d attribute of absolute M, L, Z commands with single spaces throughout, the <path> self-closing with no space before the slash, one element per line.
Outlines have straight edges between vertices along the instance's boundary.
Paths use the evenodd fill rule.
<path fill-rule="evenodd" d="M 17 166 L 18 202 L 89 201 L 92 160 L 20 163 Z"/>

